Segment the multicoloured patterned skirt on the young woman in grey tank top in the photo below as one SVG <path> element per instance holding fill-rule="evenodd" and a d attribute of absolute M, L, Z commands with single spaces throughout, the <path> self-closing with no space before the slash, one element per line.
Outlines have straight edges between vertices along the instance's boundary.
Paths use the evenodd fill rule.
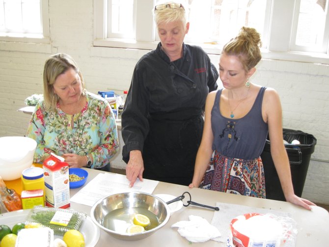
<path fill-rule="evenodd" d="M 201 188 L 266 198 L 262 159 L 229 158 L 214 152 Z"/>

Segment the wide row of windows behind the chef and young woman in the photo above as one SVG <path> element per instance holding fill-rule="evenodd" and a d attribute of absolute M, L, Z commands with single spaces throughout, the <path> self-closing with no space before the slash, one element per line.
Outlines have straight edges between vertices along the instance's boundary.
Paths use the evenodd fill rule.
<path fill-rule="evenodd" d="M 221 47 L 242 26 L 261 34 L 263 58 L 300 62 L 329 63 L 329 0 L 185 0 L 190 31 L 185 42 L 219 54 Z M 130 36 L 109 35 L 108 5 L 127 2 L 117 15 L 128 19 Z M 164 0 L 94 0 L 94 46 L 154 49 L 159 42 L 153 21 L 153 8 Z M 135 5 L 134 5 L 135 4 Z M 103 13 L 105 12 L 105 13 Z M 131 14 L 133 12 L 133 14 Z M 120 18 L 115 16 L 119 23 Z M 122 18 L 125 19 L 125 18 Z M 135 26 L 133 26 L 135 23 Z M 118 30 L 118 29 L 117 29 Z"/>

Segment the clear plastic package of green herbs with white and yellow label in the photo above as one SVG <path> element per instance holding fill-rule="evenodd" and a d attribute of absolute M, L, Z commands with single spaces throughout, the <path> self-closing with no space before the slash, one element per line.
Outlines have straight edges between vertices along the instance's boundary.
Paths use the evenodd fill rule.
<path fill-rule="evenodd" d="M 71 229 L 79 231 L 86 216 L 72 209 L 35 206 L 28 213 L 26 224 L 36 222 L 53 229 L 55 235 L 63 236 Z"/>

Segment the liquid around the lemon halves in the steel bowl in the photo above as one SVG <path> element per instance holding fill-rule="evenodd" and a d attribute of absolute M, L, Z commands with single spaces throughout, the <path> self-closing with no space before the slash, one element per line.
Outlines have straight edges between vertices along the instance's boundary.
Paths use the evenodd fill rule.
<path fill-rule="evenodd" d="M 134 224 L 136 214 L 147 216 L 150 219 L 150 224 L 144 227 L 145 231 L 159 225 L 159 218 L 155 214 L 140 207 L 115 209 L 104 217 L 102 225 L 118 233 L 127 233 L 127 228 Z"/>

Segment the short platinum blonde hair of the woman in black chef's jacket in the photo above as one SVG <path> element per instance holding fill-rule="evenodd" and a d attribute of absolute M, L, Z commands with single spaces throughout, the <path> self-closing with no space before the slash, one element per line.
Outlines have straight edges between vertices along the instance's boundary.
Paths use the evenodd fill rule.
<path fill-rule="evenodd" d="M 164 2 L 164 4 L 176 3 L 173 1 Z M 177 2 L 178 3 L 178 2 Z M 183 4 L 182 4 L 183 6 Z M 156 10 L 153 8 L 154 11 L 154 19 L 157 26 L 160 23 L 169 23 L 169 22 L 176 22 L 181 21 L 185 26 L 187 23 L 187 15 L 184 6 L 180 8 L 164 8 L 161 10 Z"/>

